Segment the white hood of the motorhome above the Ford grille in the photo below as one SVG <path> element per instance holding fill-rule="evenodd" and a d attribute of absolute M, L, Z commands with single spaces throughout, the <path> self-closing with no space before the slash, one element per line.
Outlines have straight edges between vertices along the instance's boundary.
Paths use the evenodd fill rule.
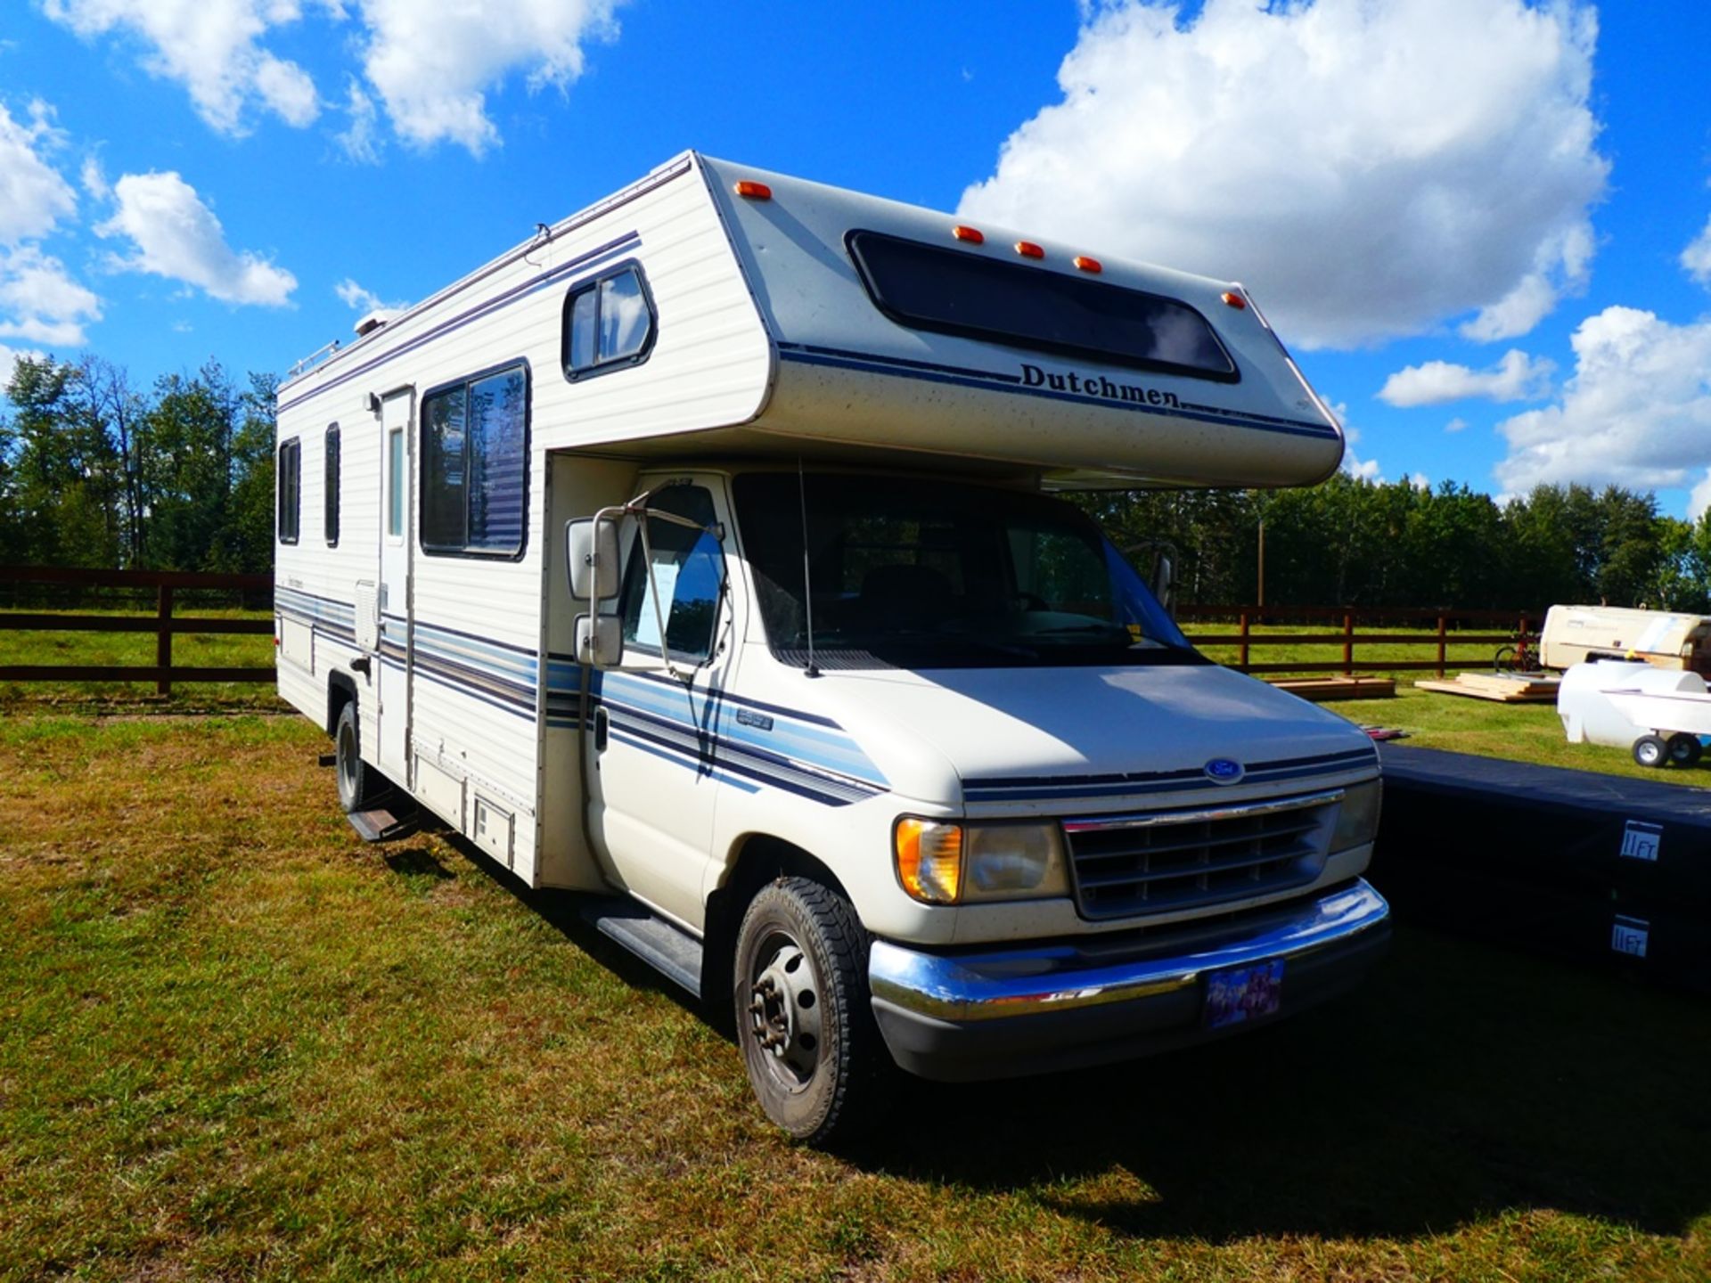
<path fill-rule="evenodd" d="M 895 792 L 1016 809 L 1275 794 L 1371 772 L 1352 722 L 1215 665 L 826 672 L 823 708 Z M 1234 761 L 1213 778 L 1206 763 Z"/>

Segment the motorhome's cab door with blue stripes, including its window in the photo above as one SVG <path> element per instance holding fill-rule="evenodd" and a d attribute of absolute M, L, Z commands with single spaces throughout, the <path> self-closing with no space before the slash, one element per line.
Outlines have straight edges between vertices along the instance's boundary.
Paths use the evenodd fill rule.
<path fill-rule="evenodd" d="M 625 532 L 625 655 L 601 674 L 589 754 L 592 828 L 613 872 L 696 929 L 720 789 L 713 732 L 737 650 L 727 520 L 724 486 L 695 479 L 655 491 L 648 517 Z"/>

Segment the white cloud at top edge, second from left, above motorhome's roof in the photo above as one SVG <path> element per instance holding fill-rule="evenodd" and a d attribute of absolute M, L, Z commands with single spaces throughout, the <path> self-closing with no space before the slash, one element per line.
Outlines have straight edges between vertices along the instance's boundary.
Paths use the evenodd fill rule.
<path fill-rule="evenodd" d="M 392 127 L 417 147 L 455 142 L 481 156 L 500 142 L 486 91 L 513 70 L 530 91 L 582 75 L 582 44 L 616 33 L 619 0 L 513 0 L 503 15 L 476 3 L 359 0 L 363 70 Z"/>

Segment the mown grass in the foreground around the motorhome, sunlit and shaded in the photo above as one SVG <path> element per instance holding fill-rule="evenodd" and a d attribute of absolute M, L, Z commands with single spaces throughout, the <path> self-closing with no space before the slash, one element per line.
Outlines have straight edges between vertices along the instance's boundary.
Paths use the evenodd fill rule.
<path fill-rule="evenodd" d="M 1371 720 L 1501 734 L 1425 700 Z M 0 1278 L 1711 1276 L 1702 999 L 1403 929 L 1275 1030 L 820 1155 L 565 898 L 359 843 L 322 751 L 0 718 Z"/>

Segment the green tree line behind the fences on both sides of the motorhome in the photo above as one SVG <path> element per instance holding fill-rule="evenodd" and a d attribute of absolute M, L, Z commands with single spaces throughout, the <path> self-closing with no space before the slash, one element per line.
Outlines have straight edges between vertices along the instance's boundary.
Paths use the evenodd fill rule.
<path fill-rule="evenodd" d="M 217 361 L 149 388 L 98 356 L 22 358 L 0 416 L 0 563 L 267 571 L 272 375 Z M 1311 489 L 1100 491 L 1078 500 L 1119 547 L 1169 549 L 1179 600 L 1711 611 L 1711 513 L 1684 522 L 1622 488 L 1466 486 L 1338 474 Z"/>

